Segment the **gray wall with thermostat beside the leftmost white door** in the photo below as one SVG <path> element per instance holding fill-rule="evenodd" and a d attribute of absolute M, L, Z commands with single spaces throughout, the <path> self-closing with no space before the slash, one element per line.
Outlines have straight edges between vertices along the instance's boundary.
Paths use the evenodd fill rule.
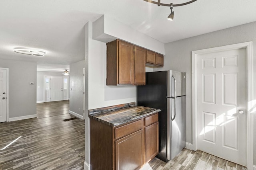
<path fill-rule="evenodd" d="M 9 68 L 9 118 L 35 115 L 36 63 L 0 59 L 0 67 Z"/>

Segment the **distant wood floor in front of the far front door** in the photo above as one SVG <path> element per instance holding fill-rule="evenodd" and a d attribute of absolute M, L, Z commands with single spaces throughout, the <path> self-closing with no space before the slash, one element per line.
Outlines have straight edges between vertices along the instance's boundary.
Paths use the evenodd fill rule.
<path fill-rule="evenodd" d="M 37 118 L 63 115 L 67 113 L 69 113 L 69 100 L 36 104 Z"/>

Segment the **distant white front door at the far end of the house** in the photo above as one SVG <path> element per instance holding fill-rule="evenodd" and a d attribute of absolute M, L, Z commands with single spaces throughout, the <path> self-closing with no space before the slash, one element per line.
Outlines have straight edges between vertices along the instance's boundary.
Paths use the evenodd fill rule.
<path fill-rule="evenodd" d="M 50 101 L 62 100 L 63 79 L 62 76 L 51 76 L 50 79 Z"/>

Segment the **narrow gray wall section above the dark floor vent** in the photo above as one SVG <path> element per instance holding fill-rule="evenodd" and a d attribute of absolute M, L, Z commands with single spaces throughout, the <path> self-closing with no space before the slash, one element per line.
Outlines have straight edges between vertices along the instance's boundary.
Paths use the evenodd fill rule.
<path fill-rule="evenodd" d="M 79 61 L 77 63 L 70 64 L 69 75 L 69 110 L 79 115 L 83 115 L 83 68 L 85 67 L 85 61 Z M 71 90 L 72 88 L 72 90 Z M 80 111 L 79 109 L 80 108 Z"/>

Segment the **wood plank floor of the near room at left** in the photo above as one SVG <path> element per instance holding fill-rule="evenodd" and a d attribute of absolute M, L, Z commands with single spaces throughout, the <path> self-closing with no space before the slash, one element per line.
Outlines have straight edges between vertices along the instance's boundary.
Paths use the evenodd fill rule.
<path fill-rule="evenodd" d="M 62 121 L 72 117 L 0 123 L 0 170 L 83 170 L 84 120 Z"/>

